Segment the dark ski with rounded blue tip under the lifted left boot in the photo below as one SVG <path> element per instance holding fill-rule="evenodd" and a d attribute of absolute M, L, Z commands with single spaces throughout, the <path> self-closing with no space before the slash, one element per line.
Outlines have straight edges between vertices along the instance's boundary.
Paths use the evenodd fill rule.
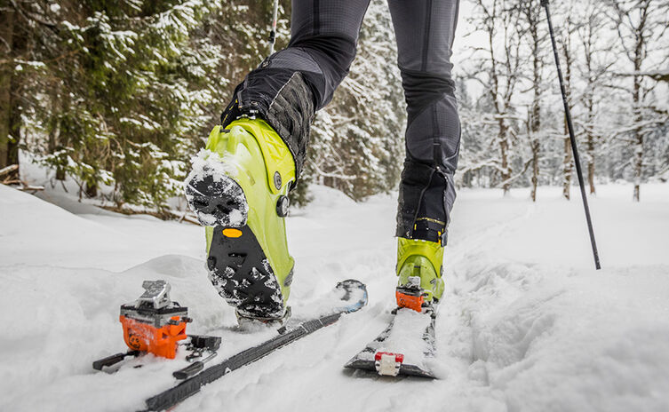
<path fill-rule="evenodd" d="M 157 411 L 171 408 L 182 400 L 199 392 L 203 385 L 210 384 L 219 379 L 219 377 L 225 376 L 233 370 L 242 368 L 253 361 L 258 361 L 267 354 L 295 342 L 300 337 L 306 337 L 318 329 L 331 325 L 338 321 L 342 314 L 356 312 L 367 304 L 367 289 L 360 281 L 352 279 L 341 281 L 337 284 L 336 289 L 343 291 L 340 300 L 338 300 L 338 305 L 340 306 L 335 306 L 329 313 L 315 317 L 314 319 L 301 321 L 296 326 L 288 329 L 279 329 L 278 336 L 241 353 L 236 353 L 225 361 L 203 369 L 197 375 L 189 377 L 170 389 L 147 399 L 147 408 L 145 410 Z"/>

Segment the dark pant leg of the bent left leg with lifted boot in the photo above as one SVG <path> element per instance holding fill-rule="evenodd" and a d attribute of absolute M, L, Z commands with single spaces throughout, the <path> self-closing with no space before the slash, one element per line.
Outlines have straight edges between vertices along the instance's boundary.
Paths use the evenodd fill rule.
<path fill-rule="evenodd" d="M 315 111 L 348 74 L 370 0 L 292 0 L 291 41 L 237 85 L 221 115 L 259 116 L 290 148 L 299 176 Z"/>

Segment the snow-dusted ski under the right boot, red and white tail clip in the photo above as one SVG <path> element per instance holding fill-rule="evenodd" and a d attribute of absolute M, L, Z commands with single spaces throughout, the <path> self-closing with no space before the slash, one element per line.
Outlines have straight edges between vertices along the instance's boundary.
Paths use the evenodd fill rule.
<path fill-rule="evenodd" d="M 434 378 L 430 362 L 434 358 L 434 312 L 418 313 L 397 309 L 393 320 L 345 368 L 377 371 L 385 376 L 423 376 Z"/>

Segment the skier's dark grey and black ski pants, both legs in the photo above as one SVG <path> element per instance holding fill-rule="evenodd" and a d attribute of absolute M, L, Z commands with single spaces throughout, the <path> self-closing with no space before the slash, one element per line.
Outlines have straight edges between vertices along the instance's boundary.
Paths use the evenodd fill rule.
<path fill-rule="evenodd" d="M 221 115 L 259 115 L 302 169 L 315 111 L 348 74 L 370 0 L 292 0 L 291 42 L 246 76 Z M 451 47 L 458 0 L 388 0 L 407 103 L 397 236 L 445 243 L 460 140 Z M 388 62 L 390 64 L 390 62 Z"/>

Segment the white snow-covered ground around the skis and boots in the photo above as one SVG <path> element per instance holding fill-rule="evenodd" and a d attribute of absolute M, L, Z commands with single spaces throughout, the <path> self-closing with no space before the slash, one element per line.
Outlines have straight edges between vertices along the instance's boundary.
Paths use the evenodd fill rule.
<path fill-rule="evenodd" d="M 641 203 L 629 186 L 598 190 L 601 271 L 577 197 L 459 192 L 436 323 L 440 379 L 429 381 L 342 369 L 394 307 L 395 201 L 356 204 L 315 187 L 315 202 L 288 218 L 294 312 L 346 278 L 367 283 L 370 304 L 176 410 L 669 410 L 669 185 L 642 186 Z M 0 410 L 135 410 L 169 385 L 179 360 L 91 368 L 123 351 L 118 307 L 144 279 L 170 281 L 195 318 L 189 331 L 222 336 L 223 356 L 274 333 L 235 331 L 207 281 L 200 227 L 41 197 L 0 186 Z"/>

